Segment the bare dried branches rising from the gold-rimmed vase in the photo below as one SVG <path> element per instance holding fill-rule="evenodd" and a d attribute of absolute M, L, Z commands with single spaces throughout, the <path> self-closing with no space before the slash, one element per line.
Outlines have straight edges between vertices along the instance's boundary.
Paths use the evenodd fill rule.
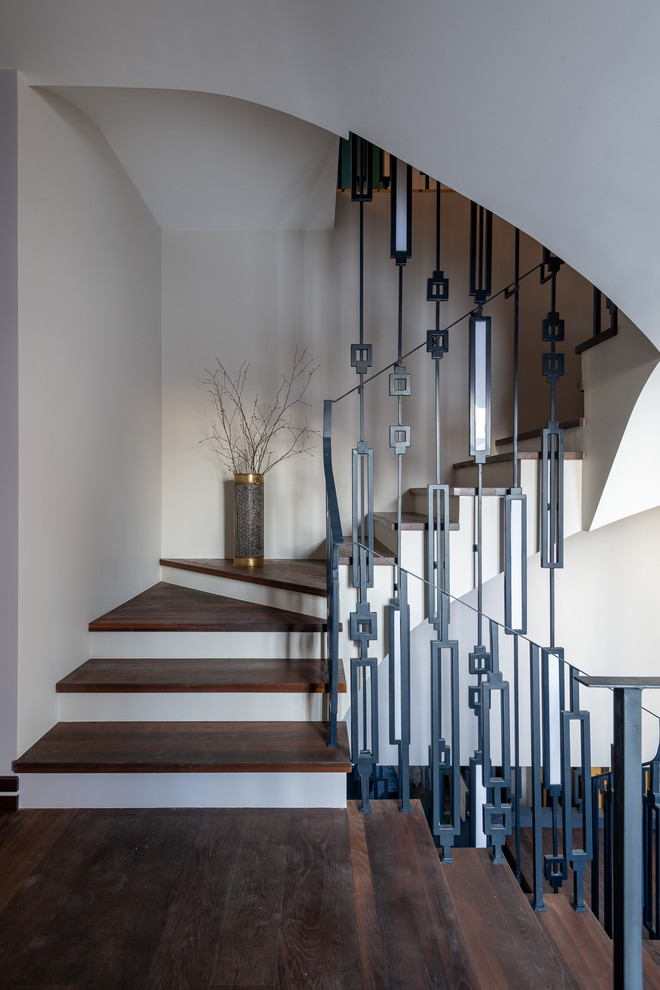
<path fill-rule="evenodd" d="M 271 403 L 259 394 L 246 396 L 249 362 L 244 361 L 232 377 L 219 358 L 214 371 L 206 369 L 204 384 L 215 408 L 212 433 L 200 440 L 208 443 L 232 474 L 265 474 L 294 454 L 310 453 L 310 441 L 320 436 L 307 419 L 294 422 L 297 406 L 309 406 L 305 394 L 318 370 L 307 357 L 307 348 L 294 351 L 291 370 L 282 375 Z"/>

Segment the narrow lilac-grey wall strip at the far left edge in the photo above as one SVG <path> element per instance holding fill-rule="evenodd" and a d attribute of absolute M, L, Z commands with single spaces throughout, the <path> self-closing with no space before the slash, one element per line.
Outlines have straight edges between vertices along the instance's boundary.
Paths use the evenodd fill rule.
<path fill-rule="evenodd" d="M 0 774 L 16 755 L 18 689 L 18 103 L 0 71 Z"/>

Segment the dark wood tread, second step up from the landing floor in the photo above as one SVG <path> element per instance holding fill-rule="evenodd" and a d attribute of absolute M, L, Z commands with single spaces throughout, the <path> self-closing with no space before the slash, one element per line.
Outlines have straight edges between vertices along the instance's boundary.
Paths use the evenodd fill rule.
<path fill-rule="evenodd" d="M 329 690 L 323 660 L 91 659 L 57 683 L 59 693 L 307 692 Z M 346 692 L 343 664 L 339 691 Z"/>

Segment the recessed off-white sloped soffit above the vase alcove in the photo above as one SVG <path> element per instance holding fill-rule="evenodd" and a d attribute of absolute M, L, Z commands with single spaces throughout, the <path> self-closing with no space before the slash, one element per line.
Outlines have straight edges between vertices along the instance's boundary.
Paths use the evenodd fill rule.
<path fill-rule="evenodd" d="M 338 138 L 246 100 L 55 86 L 104 134 L 165 230 L 334 226 Z"/>

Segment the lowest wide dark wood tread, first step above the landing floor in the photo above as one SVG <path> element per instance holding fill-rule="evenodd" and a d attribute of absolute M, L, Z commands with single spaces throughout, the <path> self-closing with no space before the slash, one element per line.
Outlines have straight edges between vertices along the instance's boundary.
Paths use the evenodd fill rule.
<path fill-rule="evenodd" d="M 346 724 L 328 749 L 322 722 L 58 722 L 16 773 L 348 773 Z"/>

